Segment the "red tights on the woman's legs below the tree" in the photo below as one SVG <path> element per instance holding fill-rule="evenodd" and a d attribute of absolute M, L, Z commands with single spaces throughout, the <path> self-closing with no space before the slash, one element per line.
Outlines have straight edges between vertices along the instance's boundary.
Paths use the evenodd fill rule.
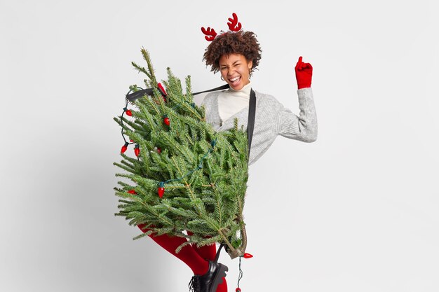
<path fill-rule="evenodd" d="M 137 225 L 140 230 L 147 232 L 148 229 L 144 228 L 144 224 Z M 190 234 L 189 234 L 190 235 Z M 192 245 L 187 245 L 182 248 L 179 253 L 175 253 L 180 244 L 187 242 L 186 238 L 183 237 L 170 237 L 168 235 L 154 236 L 154 234 L 149 235 L 151 239 L 154 240 L 158 245 L 166 249 L 168 252 L 172 253 L 175 257 L 182 260 L 186 265 L 188 265 L 194 274 L 202 275 L 208 271 L 209 260 L 214 260 L 217 254 L 217 247 L 215 244 L 206 245 L 203 247 L 196 247 Z M 227 282 L 223 278 L 221 284 L 218 285 L 217 292 L 227 292 Z"/>

